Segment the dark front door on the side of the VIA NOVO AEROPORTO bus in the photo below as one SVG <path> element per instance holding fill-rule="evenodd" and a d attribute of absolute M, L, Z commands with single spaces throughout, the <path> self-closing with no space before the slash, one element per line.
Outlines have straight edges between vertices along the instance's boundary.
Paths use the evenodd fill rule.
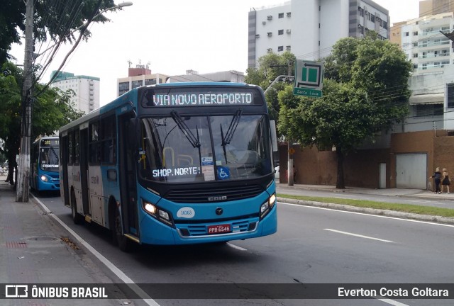
<path fill-rule="evenodd" d="M 132 114 L 118 118 L 118 152 L 120 169 L 121 214 L 123 215 L 124 234 L 139 237 L 138 203 L 135 176 L 135 144 L 128 137 L 129 119 Z"/>

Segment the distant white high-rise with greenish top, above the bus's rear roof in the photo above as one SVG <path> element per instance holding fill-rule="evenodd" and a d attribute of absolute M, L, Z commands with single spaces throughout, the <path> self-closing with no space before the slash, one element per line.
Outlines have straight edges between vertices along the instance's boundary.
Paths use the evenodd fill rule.
<path fill-rule="evenodd" d="M 51 78 L 56 71 L 52 72 Z M 89 113 L 99 108 L 99 78 L 89 76 L 74 76 L 70 72 L 58 72 L 57 77 L 52 82 L 52 87 L 57 87 L 62 91 L 72 89 L 75 95 L 71 101 L 75 104 L 78 111 Z"/>

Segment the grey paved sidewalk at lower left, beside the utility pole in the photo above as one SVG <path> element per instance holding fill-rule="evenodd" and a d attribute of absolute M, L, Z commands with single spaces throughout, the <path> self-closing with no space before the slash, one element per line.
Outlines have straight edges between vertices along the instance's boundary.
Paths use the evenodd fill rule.
<path fill-rule="evenodd" d="M 88 251 L 71 244 L 73 238 L 30 197 L 16 202 L 12 186 L 0 177 L 0 285 L 113 283 Z M 1 292 L 6 292 L 0 288 Z M 28 295 L 31 296 L 31 295 Z M 1 297 L 1 295 L 0 295 Z M 125 301 L 133 305 L 131 301 Z M 119 299 L 2 299 L 1 305 L 123 305 Z"/>

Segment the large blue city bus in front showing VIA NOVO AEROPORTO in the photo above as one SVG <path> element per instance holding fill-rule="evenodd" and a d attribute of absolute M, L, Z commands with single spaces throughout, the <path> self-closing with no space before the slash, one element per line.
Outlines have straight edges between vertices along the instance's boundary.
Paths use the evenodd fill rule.
<path fill-rule="evenodd" d="M 270 126 L 258 86 L 133 89 L 60 129 L 62 199 L 123 251 L 273 234 Z"/>

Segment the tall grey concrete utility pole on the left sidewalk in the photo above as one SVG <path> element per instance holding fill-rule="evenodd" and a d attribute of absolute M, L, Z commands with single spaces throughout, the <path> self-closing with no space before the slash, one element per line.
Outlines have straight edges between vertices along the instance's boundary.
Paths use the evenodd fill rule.
<path fill-rule="evenodd" d="M 16 202 L 28 202 L 31 146 L 31 90 L 33 57 L 33 0 L 26 2 L 26 43 L 23 61 L 21 152 L 19 152 Z"/>

